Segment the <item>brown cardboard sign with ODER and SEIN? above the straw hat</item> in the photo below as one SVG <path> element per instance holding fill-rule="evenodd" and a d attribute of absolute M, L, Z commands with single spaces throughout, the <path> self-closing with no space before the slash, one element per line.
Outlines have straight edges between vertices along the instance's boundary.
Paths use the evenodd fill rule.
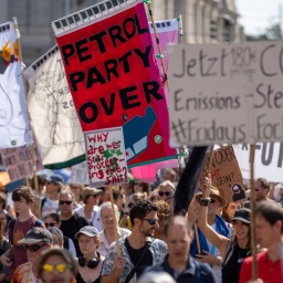
<path fill-rule="evenodd" d="M 209 157 L 207 158 L 200 178 L 207 174 Z M 210 165 L 212 186 L 228 202 L 238 202 L 245 199 L 243 178 L 232 146 L 213 150 Z"/>

